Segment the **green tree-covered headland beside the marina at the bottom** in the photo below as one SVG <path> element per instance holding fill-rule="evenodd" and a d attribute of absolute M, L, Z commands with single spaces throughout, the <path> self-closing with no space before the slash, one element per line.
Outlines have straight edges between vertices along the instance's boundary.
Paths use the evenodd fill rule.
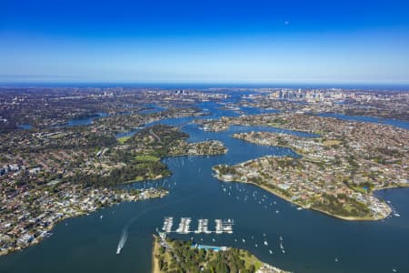
<path fill-rule="evenodd" d="M 192 241 L 154 235 L 153 273 L 161 272 L 257 272 L 288 273 L 270 266 L 239 248 L 198 245 Z"/>

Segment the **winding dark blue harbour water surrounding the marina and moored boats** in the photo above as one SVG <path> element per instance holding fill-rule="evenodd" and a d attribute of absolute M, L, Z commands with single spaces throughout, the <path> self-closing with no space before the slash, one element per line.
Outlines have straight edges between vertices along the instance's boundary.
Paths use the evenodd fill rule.
<path fill-rule="evenodd" d="M 217 110 L 219 105 L 201 106 L 212 114 L 201 118 L 238 115 Z M 191 122 L 197 117 L 155 122 L 182 126 L 189 141 L 218 139 L 229 151 L 215 157 L 166 157 L 163 162 L 172 177 L 135 183 L 125 187 L 166 187 L 162 199 L 122 203 L 89 216 L 67 219 L 41 244 L 0 258 L 0 272 L 150 272 L 152 234 L 164 217 L 233 218 L 234 234 L 172 235 L 204 245 L 245 248 L 264 262 L 295 272 L 409 272 L 409 188 L 388 189 L 376 195 L 390 200 L 401 217 L 376 222 L 352 222 L 296 207 L 264 190 L 241 183 L 225 183 L 213 177 L 216 164 L 236 164 L 266 155 L 297 155 L 286 147 L 257 146 L 232 138 L 235 132 L 281 131 L 259 126 L 232 126 L 225 132 L 204 132 Z M 285 130 L 287 133 L 311 136 Z M 277 213 L 278 211 L 278 213 Z M 103 218 L 100 218 L 103 215 Z M 124 227 L 128 238 L 120 255 L 116 246 Z M 175 227 L 175 226 L 174 226 Z M 264 235 L 268 247 L 264 246 Z M 284 238 L 285 254 L 279 248 Z M 254 239 L 252 238 L 254 237 Z M 213 241 L 213 238 L 215 241 Z M 245 238 L 245 243 L 242 242 Z M 203 240 L 202 240 L 203 239 Z M 235 241 L 235 240 L 236 241 Z M 258 247 L 255 247 L 255 244 Z M 274 253 L 269 253 L 271 249 Z M 334 259 L 338 258 L 338 262 Z"/>

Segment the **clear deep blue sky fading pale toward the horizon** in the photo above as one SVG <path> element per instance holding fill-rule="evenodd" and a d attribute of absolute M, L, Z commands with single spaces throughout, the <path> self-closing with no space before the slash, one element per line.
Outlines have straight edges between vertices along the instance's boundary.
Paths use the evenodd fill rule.
<path fill-rule="evenodd" d="M 0 0 L 0 82 L 409 83 L 409 2 Z"/>

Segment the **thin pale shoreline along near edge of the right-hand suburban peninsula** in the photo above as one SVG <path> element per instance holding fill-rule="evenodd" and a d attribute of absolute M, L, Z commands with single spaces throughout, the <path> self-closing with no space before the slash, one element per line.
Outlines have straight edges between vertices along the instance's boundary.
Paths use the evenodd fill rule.
<path fill-rule="evenodd" d="M 312 210 L 324 213 L 327 216 L 335 217 L 335 218 L 338 218 L 338 219 L 343 219 L 343 220 L 347 220 L 347 221 L 377 221 L 377 220 L 382 220 L 382 219 L 384 219 L 386 217 L 389 217 L 391 215 L 391 213 L 392 213 L 392 209 L 389 209 L 389 212 L 385 217 L 344 217 L 344 216 L 332 214 L 332 213 L 330 213 L 328 211 L 325 211 L 323 209 L 320 209 L 320 208 L 304 207 L 303 205 L 295 203 L 294 201 L 292 201 L 290 197 L 285 197 L 284 195 L 282 195 L 282 194 L 280 194 L 278 192 L 275 192 L 272 188 L 266 187 L 264 185 L 259 185 L 259 184 L 256 184 L 254 182 L 244 182 L 244 181 L 237 181 L 237 180 L 224 180 L 221 177 L 219 177 L 219 173 L 218 173 L 218 171 L 216 169 L 214 169 L 214 167 L 212 167 L 212 169 L 216 172 L 216 175 L 214 175 L 214 177 L 217 178 L 220 181 L 234 182 L 234 183 L 244 183 L 244 184 L 254 185 L 255 187 L 260 187 L 260 188 L 264 189 L 265 191 L 273 194 L 274 196 L 280 197 L 280 198 L 284 199 L 285 201 L 287 201 L 287 202 L 289 202 L 291 204 L 294 204 L 294 205 L 299 206 L 299 207 L 303 207 L 304 209 L 312 209 Z M 409 185 L 405 186 L 405 187 L 409 187 Z M 386 188 L 400 188 L 400 187 L 383 187 L 383 188 L 376 188 L 374 190 L 381 190 L 381 189 L 386 189 Z"/>

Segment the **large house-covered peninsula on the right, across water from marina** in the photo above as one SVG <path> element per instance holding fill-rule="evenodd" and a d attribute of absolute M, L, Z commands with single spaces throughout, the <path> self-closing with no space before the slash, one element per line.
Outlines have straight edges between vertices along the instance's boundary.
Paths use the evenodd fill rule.
<path fill-rule="evenodd" d="M 219 127 L 220 122 L 284 128 L 233 136 L 257 145 L 290 147 L 300 156 L 214 166 L 221 180 L 251 183 L 300 207 L 346 220 L 388 217 L 391 207 L 374 197 L 374 190 L 409 187 L 405 129 L 305 114 L 241 116 L 214 124 Z M 296 131 L 314 135 L 297 136 Z"/>

